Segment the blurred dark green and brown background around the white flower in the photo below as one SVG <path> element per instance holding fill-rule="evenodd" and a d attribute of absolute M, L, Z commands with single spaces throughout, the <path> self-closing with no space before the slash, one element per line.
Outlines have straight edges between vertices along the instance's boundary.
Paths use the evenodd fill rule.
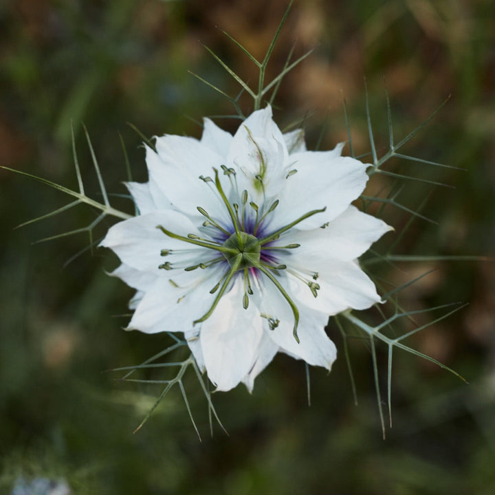
<path fill-rule="evenodd" d="M 107 187 L 124 192 L 118 132 L 133 177 L 146 180 L 140 137 L 126 122 L 149 136 L 199 137 L 203 115 L 232 108 L 188 70 L 228 94 L 239 91 L 201 43 L 255 83 L 254 65 L 221 30 L 262 58 L 286 8 L 286 0 L 3 0 L 0 164 L 75 188 L 73 121 L 87 191 L 98 198 L 84 122 Z M 316 47 L 281 85 L 275 111 L 281 125 L 306 118 L 309 146 L 320 137 L 322 148 L 347 140 L 343 96 L 355 150 L 370 150 L 365 77 L 379 154 L 387 146 L 386 90 L 397 137 L 450 95 L 406 152 L 464 170 L 391 162 L 391 170 L 454 186 L 406 185 L 401 200 L 416 209 L 427 199 L 421 212 L 438 225 L 412 223 L 398 253 L 493 254 L 494 33 L 491 0 L 296 0 L 292 7 L 268 77 L 280 72 L 294 43 L 294 56 Z M 249 113 L 249 100 L 241 106 Z M 217 122 L 230 131 L 239 124 Z M 375 184 L 371 193 L 390 182 Z M 342 352 L 330 375 L 311 371 L 311 406 L 303 364 L 281 355 L 252 396 L 242 386 L 214 395 L 230 436 L 214 426 L 210 437 L 193 376 L 186 388 L 202 442 L 178 390 L 132 434 L 159 388 L 115 382 L 102 371 L 137 364 L 170 341 L 122 331 L 119 315 L 132 291 L 105 274 L 118 264 L 113 255 L 86 251 L 65 266 L 87 246 L 86 234 L 32 245 L 87 225 L 91 211 L 14 230 L 65 202 L 60 192 L 0 170 L 1 493 L 21 476 L 65 478 L 74 494 L 495 492 L 494 263 L 399 263 L 377 272 L 399 285 L 435 269 L 402 294 L 408 309 L 469 303 L 408 343 L 470 384 L 397 354 L 385 441 L 371 354 L 360 340 L 350 342 L 358 406 Z M 385 215 L 398 231 L 408 219 L 392 208 Z M 333 323 L 329 333 L 342 351 Z M 385 387 L 386 349 L 379 349 Z"/>

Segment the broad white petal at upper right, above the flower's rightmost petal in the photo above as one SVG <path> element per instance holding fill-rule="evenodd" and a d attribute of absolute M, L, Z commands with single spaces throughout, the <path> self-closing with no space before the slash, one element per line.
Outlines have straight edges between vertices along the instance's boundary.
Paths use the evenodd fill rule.
<path fill-rule="evenodd" d="M 366 186 L 366 165 L 350 157 L 336 157 L 335 151 L 307 151 L 291 155 L 297 173 L 287 178 L 280 203 L 270 226 L 282 227 L 312 210 L 326 208 L 298 223 L 299 229 L 318 228 L 344 212 Z"/>

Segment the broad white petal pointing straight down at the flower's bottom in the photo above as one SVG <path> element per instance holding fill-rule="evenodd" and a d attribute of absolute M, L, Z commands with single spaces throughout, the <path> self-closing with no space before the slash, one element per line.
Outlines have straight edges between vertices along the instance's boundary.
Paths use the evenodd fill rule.
<path fill-rule="evenodd" d="M 256 305 L 243 309 L 241 276 L 225 294 L 212 316 L 201 325 L 201 349 L 208 377 L 219 391 L 234 388 L 248 375 L 263 335 Z"/>

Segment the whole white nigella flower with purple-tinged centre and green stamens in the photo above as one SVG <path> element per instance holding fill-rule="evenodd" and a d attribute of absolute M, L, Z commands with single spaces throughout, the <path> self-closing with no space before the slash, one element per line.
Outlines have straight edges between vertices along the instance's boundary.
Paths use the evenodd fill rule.
<path fill-rule="evenodd" d="M 330 315 L 380 301 L 358 257 L 391 230 L 360 212 L 366 164 L 307 151 L 272 109 L 230 135 L 205 119 L 201 140 L 157 137 L 149 181 L 127 184 L 140 214 L 102 245 L 137 289 L 129 329 L 181 331 L 218 390 L 254 378 L 278 351 L 331 368 Z"/>

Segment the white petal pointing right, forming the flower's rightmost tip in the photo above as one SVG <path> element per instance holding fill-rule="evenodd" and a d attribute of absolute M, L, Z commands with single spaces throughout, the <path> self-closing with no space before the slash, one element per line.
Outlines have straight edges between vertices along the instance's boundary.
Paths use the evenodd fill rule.
<path fill-rule="evenodd" d="M 360 212 L 351 205 L 326 228 L 293 229 L 277 244 L 300 244 L 299 248 L 289 252 L 283 262 L 307 268 L 311 266 L 312 270 L 318 272 L 318 266 L 325 264 L 328 259 L 353 261 L 359 258 L 389 230 L 393 228 L 384 221 Z"/>

